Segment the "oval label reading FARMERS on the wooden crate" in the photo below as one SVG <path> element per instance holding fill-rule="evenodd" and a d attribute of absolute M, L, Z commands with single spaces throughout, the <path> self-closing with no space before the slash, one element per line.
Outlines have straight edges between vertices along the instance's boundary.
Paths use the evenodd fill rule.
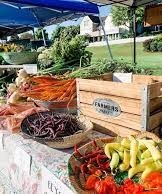
<path fill-rule="evenodd" d="M 117 117 L 121 114 L 120 106 L 110 99 L 97 98 L 93 101 L 93 107 L 97 112 L 111 117 Z"/>

